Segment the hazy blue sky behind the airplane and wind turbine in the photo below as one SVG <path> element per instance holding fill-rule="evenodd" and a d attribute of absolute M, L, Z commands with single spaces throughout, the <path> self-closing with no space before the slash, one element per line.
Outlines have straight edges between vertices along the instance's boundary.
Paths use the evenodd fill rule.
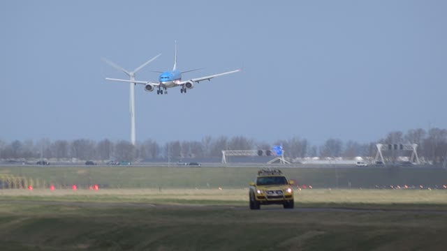
<path fill-rule="evenodd" d="M 370 142 L 447 128 L 447 1 L 0 1 L 0 139 L 130 142 L 128 70 L 243 67 L 135 88 L 136 137 Z"/>

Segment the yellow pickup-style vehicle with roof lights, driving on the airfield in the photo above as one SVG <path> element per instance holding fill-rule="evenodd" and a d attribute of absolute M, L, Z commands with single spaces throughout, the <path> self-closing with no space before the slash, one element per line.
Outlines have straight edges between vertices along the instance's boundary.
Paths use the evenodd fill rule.
<path fill-rule="evenodd" d="M 250 209 L 260 209 L 261 204 L 282 204 L 293 208 L 293 181 L 287 181 L 279 169 L 258 171 L 254 182 L 250 183 Z"/>

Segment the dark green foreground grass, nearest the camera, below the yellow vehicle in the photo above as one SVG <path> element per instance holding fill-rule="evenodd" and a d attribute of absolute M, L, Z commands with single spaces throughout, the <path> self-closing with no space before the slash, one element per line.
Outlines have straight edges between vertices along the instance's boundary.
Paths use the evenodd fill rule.
<path fill-rule="evenodd" d="M 445 250 L 447 245 L 446 213 L 2 203 L 0 222 L 2 250 Z"/>

